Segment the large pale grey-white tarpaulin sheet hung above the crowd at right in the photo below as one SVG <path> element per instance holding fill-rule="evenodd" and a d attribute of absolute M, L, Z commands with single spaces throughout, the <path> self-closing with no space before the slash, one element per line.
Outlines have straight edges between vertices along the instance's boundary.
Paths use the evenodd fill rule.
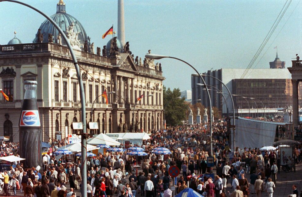
<path fill-rule="evenodd" d="M 231 121 L 232 122 L 232 121 Z M 267 122 L 238 117 L 235 119 L 235 146 L 239 148 L 261 148 L 272 146 L 280 122 Z M 231 130 L 233 142 L 233 131 Z"/>

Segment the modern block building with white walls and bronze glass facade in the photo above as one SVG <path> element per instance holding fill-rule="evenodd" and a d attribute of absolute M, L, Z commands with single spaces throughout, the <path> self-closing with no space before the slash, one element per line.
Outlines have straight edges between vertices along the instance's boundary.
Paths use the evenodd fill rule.
<path fill-rule="evenodd" d="M 240 116 L 256 117 L 257 115 L 273 115 L 277 113 L 277 108 L 291 106 L 292 105 L 292 81 L 291 75 L 287 69 L 272 69 L 272 68 L 284 68 L 285 63 L 281 62 L 276 57 L 275 66 L 271 64 L 271 68 L 251 69 L 242 78 L 241 76 L 245 72 L 245 69 L 241 68 L 222 68 L 214 71 L 207 71 L 204 75 L 211 75 L 223 83 L 229 88 L 229 91 L 233 96 L 235 112 Z M 274 63 L 273 62 L 273 63 Z M 218 107 L 222 110 L 222 114 L 227 115 L 227 107 L 229 113 L 233 113 L 233 106 L 227 89 L 216 79 L 203 76 L 207 85 L 210 85 L 210 96 L 212 106 Z M 196 74 L 191 75 L 191 87 L 192 87 L 192 103 L 194 100 L 202 99 L 202 104 L 208 106 L 208 97 L 204 87 L 196 85 L 202 83 L 200 77 Z M 214 87 L 211 87 L 214 86 Z M 299 91 L 302 92 L 301 85 Z M 217 93 L 222 92 L 222 93 Z M 226 98 L 226 102 L 224 98 Z M 244 98 L 245 97 L 245 98 Z M 227 103 L 227 104 L 225 104 Z M 299 103 L 302 104 L 302 99 L 299 97 Z"/>

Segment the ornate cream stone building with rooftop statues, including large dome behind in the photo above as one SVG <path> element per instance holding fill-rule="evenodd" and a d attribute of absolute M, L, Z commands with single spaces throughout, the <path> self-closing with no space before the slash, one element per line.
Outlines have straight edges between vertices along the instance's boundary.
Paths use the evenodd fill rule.
<path fill-rule="evenodd" d="M 83 26 L 66 14 L 62 0 L 57 4 L 57 13 L 51 17 L 65 30 L 74 47 L 85 89 L 86 120 L 99 122 L 98 133 L 122 132 L 119 125 L 125 128 L 125 124 L 129 132 L 134 127 L 132 121 L 139 131 L 163 127 L 164 77 L 159 64 L 153 60 L 144 60 L 142 64 L 138 57 L 134 60 L 129 45 L 125 49 L 114 48 L 120 43 L 114 39 L 107 44 L 110 48 L 102 54 L 97 48 L 94 54 L 93 43 L 90 44 Z M 0 88 L 10 98 L 6 101 L 0 97 L 0 136 L 9 136 L 11 141 L 19 141 L 18 122 L 25 80 L 38 82 L 37 100 L 44 141 L 56 134 L 67 137 L 72 133 L 71 122 L 81 121 L 79 84 L 69 49 L 48 21 L 39 29 L 33 43 L 21 44 L 20 41 L 0 46 Z M 108 105 L 100 96 L 104 90 L 115 92 L 108 94 Z M 144 97 L 134 105 L 140 95 Z"/>

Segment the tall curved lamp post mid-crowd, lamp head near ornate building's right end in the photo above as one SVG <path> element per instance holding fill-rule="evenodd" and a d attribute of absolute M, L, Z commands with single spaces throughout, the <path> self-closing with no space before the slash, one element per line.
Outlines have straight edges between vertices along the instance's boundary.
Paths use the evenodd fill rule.
<path fill-rule="evenodd" d="M 186 61 L 184 60 L 181 60 L 179 58 L 176 58 L 176 57 L 170 57 L 170 56 L 163 56 L 163 55 L 156 55 L 156 54 L 147 54 L 145 55 L 146 58 L 149 58 L 149 59 L 155 59 L 155 60 L 159 60 L 159 59 L 162 59 L 162 58 L 171 58 L 171 59 L 175 59 L 175 60 L 179 60 L 179 61 L 182 61 L 183 63 L 189 65 L 191 68 L 193 68 L 193 70 L 199 75 L 199 77 L 201 78 L 202 82 L 204 84 L 206 84 L 205 80 L 202 78 L 202 76 L 200 75 L 200 73 L 189 63 L 187 63 Z M 209 97 L 209 100 L 210 100 L 210 109 L 212 109 L 212 103 L 211 103 L 211 97 L 210 97 L 210 93 L 209 93 L 209 90 L 206 86 L 204 86 L 206 88 L 206 92 L 208 94 L 208 97 Z M 210 117 L 212 117 L 212 110 L 210 110 Z M 211 149 L 211 156 L 213 156 L 213 142 L 212 142 L 212 118 L 210 118 L 210 121 L 209 121 L 209 125 L 210 125 L 210 149 Z"/>

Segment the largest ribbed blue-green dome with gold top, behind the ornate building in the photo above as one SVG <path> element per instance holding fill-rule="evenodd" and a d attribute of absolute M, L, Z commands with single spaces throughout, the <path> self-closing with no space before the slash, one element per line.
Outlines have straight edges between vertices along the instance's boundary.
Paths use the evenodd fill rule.
<path fill-rule="evenodd" d="M 81 25 L 80 21 L 78 21 L 75 17 L 69 15 L 65 11 L 65 3 L 63 0 L 60 0 L 57 4 L 57 13 L 53 14 L 51 18 L 60 26 L 60 28 L 63 30 L 63 32 L 66 34 L 66 29 L 68 29 L 69 25 L 74 23 L 74 32 L 80 32 L 78 34 L 78 39 L 80 40 L 81 47 L 83 47 L 84 42 L 87 41 L 88 37 L 86 34 L 86 31 L 84 27 Z M 57 42 L 57 36 L 59 34 L 59 31 L 53 26 L 51 22 L 48 20 L 45 20 L 41 26 L 39 27 L 41 29 L 41 33 L 43 34 L 43 42 L 48 42 L 48 34 L 51 33 L 53 35 L 54 42 Z M 33 40 L 34 43 L 37 42 L 37 35 L 36 34 L 35 39 Z M 62 44 L 65 44 L 65 41 L 62 39 Z"/>

